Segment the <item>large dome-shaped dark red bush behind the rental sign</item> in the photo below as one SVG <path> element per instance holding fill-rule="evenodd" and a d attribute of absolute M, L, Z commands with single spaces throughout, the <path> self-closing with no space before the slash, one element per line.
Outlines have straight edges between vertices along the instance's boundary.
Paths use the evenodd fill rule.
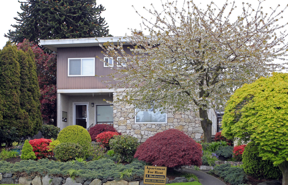
<path fill-rule="evenodd" d="M 157 166 L 178 167 L 202 164 L 202 149 L 189 136 L 176 129 L 159 132 L 141 144 L 134 158 Z"/>

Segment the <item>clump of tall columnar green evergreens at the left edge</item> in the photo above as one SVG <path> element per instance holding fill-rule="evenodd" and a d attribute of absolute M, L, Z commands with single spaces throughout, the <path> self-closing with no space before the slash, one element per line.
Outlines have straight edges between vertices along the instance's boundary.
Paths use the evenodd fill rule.
<path fill-rule="evenodd" d="M 21 61 L 21 65 L 19 62 Z M 33 52 L 7 42 L 0 52 L 0 143 L 34 135 L 41 127 L 39 86 Z"/>

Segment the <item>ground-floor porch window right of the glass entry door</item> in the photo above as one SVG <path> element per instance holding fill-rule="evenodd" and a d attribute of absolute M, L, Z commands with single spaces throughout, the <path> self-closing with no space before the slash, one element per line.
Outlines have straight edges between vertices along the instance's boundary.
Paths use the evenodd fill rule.
<path fill-rule="evenodd" d="M 113 125 L 113 107 L 111 105 L 97 105 L 96 124 Z"/>

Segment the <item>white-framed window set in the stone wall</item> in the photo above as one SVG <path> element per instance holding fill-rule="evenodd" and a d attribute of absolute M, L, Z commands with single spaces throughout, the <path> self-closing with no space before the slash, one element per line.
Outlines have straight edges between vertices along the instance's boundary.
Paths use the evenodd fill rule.
<path fill-rule="evenodd" d="M 167 124 L 167 114 L 153 109 L 140 111 L 135 109 L 135 124 Z"/>

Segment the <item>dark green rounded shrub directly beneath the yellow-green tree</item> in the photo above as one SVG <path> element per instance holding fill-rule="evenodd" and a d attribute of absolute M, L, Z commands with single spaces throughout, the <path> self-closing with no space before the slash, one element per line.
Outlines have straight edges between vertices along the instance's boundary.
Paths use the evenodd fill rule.
<path fill-rule="evenodd" d="M 275 167 L 271 161 L 262 160 L 262 157 L 259 157 L 259 152 L 254 142 L 247 144 L 242 157 L 243 169 L 246 174 L 256 178 L 282 178 L 282 172 L 278 167 Z"/>

